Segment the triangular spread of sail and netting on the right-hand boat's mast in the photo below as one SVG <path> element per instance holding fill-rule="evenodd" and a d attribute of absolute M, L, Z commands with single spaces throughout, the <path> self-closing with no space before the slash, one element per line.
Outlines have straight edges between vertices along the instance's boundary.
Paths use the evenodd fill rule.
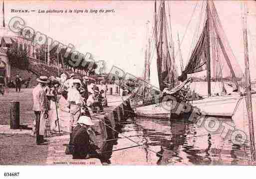
<path fill-rule="evenodd" d="M 179 80 L 187 79 L 187 74 L 209 70 L 211 80 L 226 78 L 238 86 L 242 69 L 232 52 L 212 0 L 207 0 L 206 11 L 203 31 Z M 210 69 L 207 69 L 207 62 Z"/>

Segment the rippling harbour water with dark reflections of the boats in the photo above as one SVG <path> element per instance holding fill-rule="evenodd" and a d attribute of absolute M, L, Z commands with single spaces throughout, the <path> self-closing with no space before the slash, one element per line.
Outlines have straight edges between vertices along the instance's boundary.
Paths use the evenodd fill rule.
<path fill-rule="evenodd" d="M 247 165 L 250 160 L 248 142 L 242 146 L 234 145 L 223 139 L 218 131 L 210 133 L 204 127 L 182 119 L 137 118 L 136 122 L 123 125 L 120 132 L 125 136 L 140 135 L 132 138 L 139 144 L 154 144 L 113 152 L 109 164 Z M 135 145 L 127 139 L 117 139 L 113 149 Z"/>

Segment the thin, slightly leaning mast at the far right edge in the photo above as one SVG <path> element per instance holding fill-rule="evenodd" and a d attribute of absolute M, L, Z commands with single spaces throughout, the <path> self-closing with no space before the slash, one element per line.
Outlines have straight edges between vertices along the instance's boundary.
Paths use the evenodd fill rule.
<path fill-rule="evenodd" d="M 244 1 L 243 35 L 244 35 L 244 48 L 245 48 L 246 104 L 247 104 L 247 113 L 249 118 L 251 155 L 252 155 L 252 162 L 254 163 L 256 161 L 256 154 L 255 154 L 255 139 L 254 139 L 251 75 L 250 75 L 250 64 L 249 64 L 249 56 L 248 56 L 249 52 L 248 52 L 248 37 L 247 37 L 247 13 L 248 13 L 247 2 Z"/>

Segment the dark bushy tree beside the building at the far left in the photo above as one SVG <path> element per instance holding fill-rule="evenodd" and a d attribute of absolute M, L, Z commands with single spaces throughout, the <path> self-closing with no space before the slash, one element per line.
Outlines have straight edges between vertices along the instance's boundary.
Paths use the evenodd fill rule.
<path fill-rule="evenodd" d="M 11 66 L 15 66 L 18 69 L 28 68 L 28 55 L 27 52 L 18 48 L 18 44 L 14 43 L 7 51 L 7 56 Z"/>

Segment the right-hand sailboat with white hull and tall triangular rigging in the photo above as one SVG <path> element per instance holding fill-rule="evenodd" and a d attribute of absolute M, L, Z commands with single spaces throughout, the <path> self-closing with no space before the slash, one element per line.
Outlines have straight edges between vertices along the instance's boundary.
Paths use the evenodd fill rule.
<path fill-rule="evenodd" d="M 243 73 L 233 55 L 212 0 L 206 1 L 204 28 L 180 78 L 186 79 L 188 74 L 204 70 L 207 72 L 208 97 L 193 101 L 193 106 L 204 111 L 207 116 L 232 118 L 245 95 L 238 82 L 243 80 Z M 229 83 L 224 82 L 225 77 L 230 79 L 235 88 L 229 95 L 226 91 Z M 219 79 L 221 87 L 220 92 L 214 94 L 211 85 L 216 84 L 216 79 Z"/>

